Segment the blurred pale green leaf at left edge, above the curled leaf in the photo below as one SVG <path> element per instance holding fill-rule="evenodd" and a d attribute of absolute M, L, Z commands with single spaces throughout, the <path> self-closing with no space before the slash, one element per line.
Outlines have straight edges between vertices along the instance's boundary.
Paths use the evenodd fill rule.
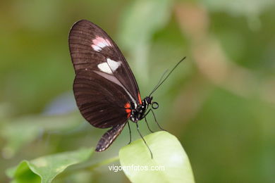
<path fill-rule="evenodd" d="M 1 135 L 6 139 L 2 155 L 11 158 L 22 146 L 35 140 L 39 135 L 47 132 L 71 130 L 77 127 L 80 116 L 75 113 L 65 115 L 31 116 L 17 118 L 1 128 Z M 63 125 L 66 123 L 66 125 Z"/>

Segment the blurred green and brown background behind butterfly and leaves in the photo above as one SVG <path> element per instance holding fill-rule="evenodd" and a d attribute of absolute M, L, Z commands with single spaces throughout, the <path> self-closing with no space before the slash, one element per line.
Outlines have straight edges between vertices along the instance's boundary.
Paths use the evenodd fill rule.
<path fill-rule="evenodd" d="M 0 182 L 20 160 L 95 146 L 105 131 L 75 107 L 68 32 L 80 19 L 116 41 L 142 97 L 187 56 L 154 100 L 196 182 L 275 182 L 274 8 L 272 0 L 1 1 Z M 116 156 L 128 140 L 126 129 L 90 162 Z M 107 165 L 55 181 L 129 182 Z"/>

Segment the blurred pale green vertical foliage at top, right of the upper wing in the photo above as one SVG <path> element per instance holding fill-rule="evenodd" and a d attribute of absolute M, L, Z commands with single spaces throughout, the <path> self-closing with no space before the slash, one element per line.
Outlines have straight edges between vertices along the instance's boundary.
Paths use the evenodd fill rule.
<path fill-rule="evenodd" d="M 142 72 L 142 75 L 136 76 L 137 80 L 144 83 L 148 81 L 147 59 L 152 36 L 166 25 L 170 11 L 171 0 L 141 0 L 130 4 L 121 15 L 121 27 L 118 29 L 121 48 L 129 52 L 136 72 Z"/>

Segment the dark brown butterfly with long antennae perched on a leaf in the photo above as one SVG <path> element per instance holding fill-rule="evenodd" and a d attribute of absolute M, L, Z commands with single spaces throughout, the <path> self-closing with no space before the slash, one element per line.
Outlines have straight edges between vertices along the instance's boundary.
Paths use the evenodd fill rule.
<path fill-rule="evenodd" d="M 173 70 L 142 100 L 126 59 L 100 27 L 88 20 L 78 21 L 71 28 L 69 47 L 75 69 L 73 92 L 80 113 L 94 127 L 111 128 L 97 144 L 96 151 L 104 151 L 118 137 L 129 119 L 138 128 L 138 120 L 152 111 L 149 106 L 158 108 L 151 94 Z M 129 122 L 128 126 L 130 130 Z"/>

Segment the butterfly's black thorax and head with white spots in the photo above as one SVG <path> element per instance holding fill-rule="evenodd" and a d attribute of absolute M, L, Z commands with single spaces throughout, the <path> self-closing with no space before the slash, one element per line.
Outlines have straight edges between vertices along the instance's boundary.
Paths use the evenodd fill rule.
<path fill-rule="evenodd" d="M 145 99 L 142 100 L 141 104 L 135 107 L 135 105 L 131 105 L 131 113 L 130 113 L 130 120 L 133 122 L 138 122 L 145 117 L 145 112 L 149 105 L 152 104 L 152 96 L 146 96 Z"/>

